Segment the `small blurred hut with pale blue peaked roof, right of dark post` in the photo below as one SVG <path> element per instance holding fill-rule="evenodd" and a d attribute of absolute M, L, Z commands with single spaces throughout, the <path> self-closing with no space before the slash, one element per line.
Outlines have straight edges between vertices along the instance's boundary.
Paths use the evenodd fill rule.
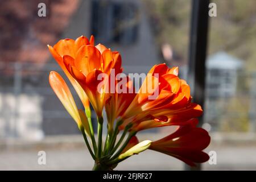
<path fill-rule="evenodd" d="M 212 129 L 216 130 L 218 115 L 226 107 L 226 98 L 234 97 L 237 93 L 238 80 L 244 65 L 242 60 L 226 52 L 217 52 L 208 57 L 206 67 L 205 122 L 210 123 Z"/>

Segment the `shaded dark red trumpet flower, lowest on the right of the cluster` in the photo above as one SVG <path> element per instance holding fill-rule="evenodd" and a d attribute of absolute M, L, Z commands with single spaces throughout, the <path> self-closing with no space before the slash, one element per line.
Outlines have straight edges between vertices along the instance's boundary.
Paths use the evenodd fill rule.
<path fill-rule="evenodd" d="M 207 162 L 209 156 L 202 150 L 209 145 L 210 136 L 207 131 L 197 128 L 196 125 L 197 120 L 191 119 L 187 125 L 179 126 L 175 133 L 152 142 L 149 149 L 174 156 L 189 166 Z"/>

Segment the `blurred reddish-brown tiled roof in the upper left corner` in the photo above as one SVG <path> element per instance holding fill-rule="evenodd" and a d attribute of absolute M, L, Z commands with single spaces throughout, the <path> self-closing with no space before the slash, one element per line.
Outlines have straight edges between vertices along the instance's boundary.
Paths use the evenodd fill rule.
<path fill-rule="evenodd" d="M 38 4 L 46 3 L 46 17 L 38 16 Z M 35 63 L 49 59 L 47 44 L 54 44 L 76 12 L 80 0 L 8 0 L 0 6 L 0 66 L 10 75 L 7 63 Z M 1 71 L 2 72 L 2 71 Z"/>

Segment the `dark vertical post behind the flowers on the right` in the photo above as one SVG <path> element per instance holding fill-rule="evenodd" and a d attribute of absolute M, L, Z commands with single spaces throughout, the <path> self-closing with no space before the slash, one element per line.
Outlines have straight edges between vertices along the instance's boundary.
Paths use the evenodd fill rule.
<path fill-rule="evenodd" d="M 207 55 L 208 11 L 209 0 L 192 0 L 191 31 L 189 42 L 188 83 L 191 86 L 193 102 L 204 107 L 205 96 L 205 59 Z M 204 108 L 203 108 L 204 109 Z M 203 116 L 199 118 L 199 126 L 203 124 Z M 187 170 L 200 170 L 188 167 Z"/>

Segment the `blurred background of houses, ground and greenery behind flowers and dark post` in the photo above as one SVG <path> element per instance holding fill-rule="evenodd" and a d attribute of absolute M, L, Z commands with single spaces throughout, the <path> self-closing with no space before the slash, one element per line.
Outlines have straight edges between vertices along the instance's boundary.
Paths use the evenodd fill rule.
<path fill-rule="evenodd" d="M 39 17 L 39 3 L 46 17 Z M 212 0 L 209 17 L 203 127 L 217 164 L 205 170 L 256 170 L 256 1 Z M 187 79 L 192 3 L 188 0 L 0 1 L 0 169 L 88 170 L 93 166 L 76 123 L 48 84 L 63 74 L 47 44 L 94 35 L 122 55 L 125 73 L 154 64 L 178 66 Z M 66 79 L 67 80 L 67 79 Z M 74 95 L 75 92 L 72 90 Z M 82 104 L 77 99 L 77 105 Z M 145 131 L 158 139 L 168 129 Z M 47 164 L 38 164 L 38 151 Z M 145 151 L 117 169 L 183 170 L 167 155 Z"/>

